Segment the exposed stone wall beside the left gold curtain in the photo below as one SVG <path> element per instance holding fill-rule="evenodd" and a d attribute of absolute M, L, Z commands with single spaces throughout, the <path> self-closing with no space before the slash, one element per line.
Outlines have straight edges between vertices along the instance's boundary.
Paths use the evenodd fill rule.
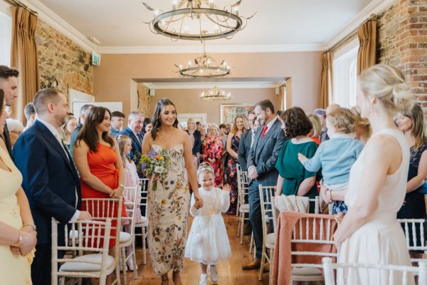
<path fill-rule="evenodd" d="M 54 28 L 38 19 L 36 28 L 38 71 L 41 87 L 46 81 L 58 82 L 56 87 L 68 98 L 68 88 L 93 94 L 91 54 Z"/>

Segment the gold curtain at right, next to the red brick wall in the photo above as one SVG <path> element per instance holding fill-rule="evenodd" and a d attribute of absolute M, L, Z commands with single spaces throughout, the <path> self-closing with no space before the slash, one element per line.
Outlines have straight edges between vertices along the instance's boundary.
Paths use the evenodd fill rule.
<path fill-rule="evenodd" d="M 359 75 L 376 63 L 376 19 L 366 21 L 359 30 L 359 52 L 357 53 L 357 74 Z"/>

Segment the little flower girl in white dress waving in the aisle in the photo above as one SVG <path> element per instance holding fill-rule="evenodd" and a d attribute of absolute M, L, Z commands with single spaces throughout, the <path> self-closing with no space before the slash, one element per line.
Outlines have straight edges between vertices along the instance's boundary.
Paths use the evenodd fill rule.
<path fill-rule="evenodd" d="M 197 177 L 201 185 L 199 194 L 204 200 L 204 206 L 196 209 L 194 197 L 191 196 L 190 214 L 195 218 L 186 242 L 185 257 L 200 263 L 200 285 L 207 285 L 208 264 L 211 281 L 216 283 L 218 282 L 216 263 L 225 261 L 231 256 L 226 225 L 221 216 L 221 212 L 226 212 L 230 207 L 230 187 L 226 185 L 223 190 L 214 187 L 214 169 L 207 162 L 201 163 Z"/>

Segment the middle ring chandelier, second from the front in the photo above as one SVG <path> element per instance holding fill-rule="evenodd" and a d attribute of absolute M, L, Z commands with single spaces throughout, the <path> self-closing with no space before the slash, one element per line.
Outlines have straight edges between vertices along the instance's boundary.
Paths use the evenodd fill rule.
<path fill-rule="evenodd" d="M 183 68 L 181 64 L 179 66 L 175 64 L 175 66 L 179 68 L 181 76 L 192 78 L 228 76 L 231 73 L 230 66 L 226 61 L 223 60 L 218 64 L 214 58 L 206 54 L 204 42 L 203 55 L 189 61 L 186 68 Z"/>

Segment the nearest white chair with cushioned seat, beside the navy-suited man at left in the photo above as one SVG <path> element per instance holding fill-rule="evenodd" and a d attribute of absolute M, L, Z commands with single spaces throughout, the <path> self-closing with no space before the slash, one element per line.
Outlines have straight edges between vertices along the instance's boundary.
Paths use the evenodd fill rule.
<path fill-rule="evenodd" d="M 65 225 L 65 245 L 58 246 L 58 222 L 52 218 L 52 279 L 51 284 L 65 284 L 65 277 L 73 279 L 97 278 L 100 285 L 105 285 L 107 275 L 116 268 L 113 257 L 108 255 L 110 241 L 111 219 L 101 221 L 77 221 Z M 69 232 L 77 232 L 70 239 Z M 102 244 L 103 240 L 103 244 Z M 102 244 L 102 246 L 101 246 Z M 58 258 L 58 251 L 77 252 L 77 256 L 69 258 L 66 255 Z M 92 254 L 88 254 L 92 252 Z M 60 267 L 58 269 L 58 263 Z M 117 284 L 116 279 L 112 284 Z M 120 284 L 120 283 L 119 283 Z"/>

